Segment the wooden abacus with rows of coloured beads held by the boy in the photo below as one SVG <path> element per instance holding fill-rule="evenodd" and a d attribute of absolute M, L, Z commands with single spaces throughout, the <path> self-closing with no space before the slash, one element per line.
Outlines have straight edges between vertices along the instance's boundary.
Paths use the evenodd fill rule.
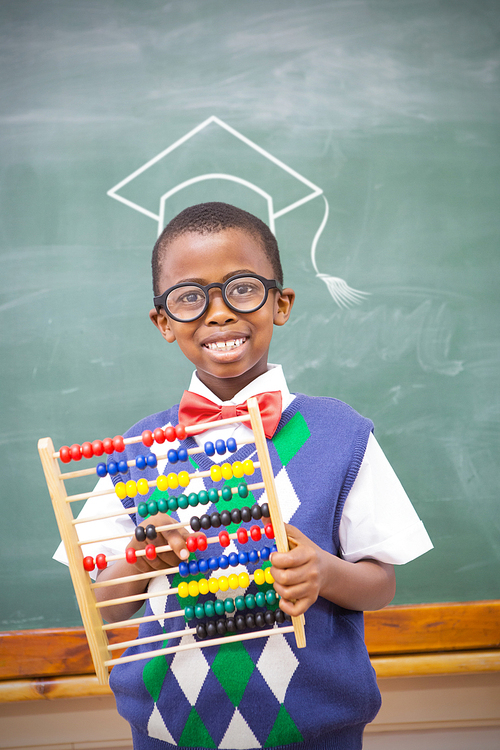
<path fill-rule="evenodd" d="M 258 458 L 258 461 L 256 463 L 247 460 L 239 466 L 237 466 L 238 462 L 235 462 L 233 466 L 231 466 L 231 464 L 229 463 L 222 464 L 222 466 L 214 464 L 211 467 L 211 472 L 194 472 L 189 474 L 187 471 L 180 471 L 178 474 L 169 473 L 168 476 L 160 474 L 157 477 L 156 481 L 153 482 L 148 482 L 148 480 L 145 478 L 141 478 L 137 482 L 133 480 L 126 483 L 117 482 L 114 485 L 114 488 L 110 489 L 109 492 L 115 492 L 122 500 L 125 499 L 125 497 L 134 498 L 137 495 L 146 495 L 149 493 L 151 487 L 154 486 L 156 486 L 160 491 L 167 490 L 168 488 L 176 489 L 178 486 L 180 486 L 183 489 L 186 488 L 187 492 L 189 483 L 195 477 L 198 478 L 210 475 L 212 481 L 216 483 L 222 480 L 229 479 L 232 476 L 236 478 L 243 477 L 245 474 L 250 476 L 251 474 L 253 474 L 254 468 L 260 468 L 262 474 L 261 483 L 247 485 L 245 482 L 238 485 L 237 488 L 232 488 L 225 485 L 221 490 L 213 488 L 208 492 L 200 492 L 197 496 L 195 495 L 195 493 L 191 493 L 188 497 L 186 497 L 185 494 L 182 494 L 178 498 L 169 498 L 168 501 L 163 500 L 164 507 L 159 508 L 159 510 L 161 512 L 166 512 L 167 510 L 176 510 L 177 507 L 187 507 L 187 505 L 190 504 L 196 505 L 198 503 L 206 504 L 207 502 L 211 501 L 215 502 L 216 500 L 214 498 L 214 492 L 217 494 L 217 499 L 219 497 L 222 497 L 225 500 L 230 500 L 234 492 L 238 492 L 241 497 L 245 497 L 245 493 L 248 493 L 248 491 L 252 489 L 265 489 L 267 495 L 267 503 L 263 504 L 262 506 L 259 506 L 259 504 L 256 503 L 254 506 L 252 506 L 252 508 L 234 509 L 231 512 L 229 510 L 224 510 L 221 513 L 213 513 L 211 514 L 211 516 L 209 516 L 208 514 L 203 514 L 201 517 L 193 516 L 190 522 L 187 524 L 173 523 L 167 526 L 158 525 L 156 527 L 154 524 L 150 524 L 146 528 L 144 528 L 143 526 L 137 526 L 136 538 L 139 541 L 147 542 L 148 540 L 153 540 L 156 538 L 158 531 L 161 532 L 167 529 L 173 530 L 175 528 L 191 526 L 191 530 L 193 532 L 198 532 L 200 530 L 208 530 L 208 528 L 212 526 L 227 526 L 229 525 L 227 523 L 228 518 L 230 519 L 229 522 L 238 524 L 240 524 L 240 522 L 242 521 L 251 522 L 264 518 L 264 528 L 254 524 L 250 529 L 250 533 L 248 533 L 246 528 L 241 525 L 238 527 L 236 534 L 231 535 L 229 535 L 225 529 L 220 531 L 218 536 L 211 536 L 209 538 L 207 538 L 203 533 L 195 533 L 187 537 L 186 544 L 189 551 L 194 552 L 196 549 L 205 550 L 207 548 L 207 545 L 212 543 L 219 543 L 222 547 L 228 546 L 230 543 L 230 536 L 232 538 L 237 538 L 238 542 L 240 543 L 246 543 L 247 541 L 249 541 L 249 536 L 252 540 L 257 541 L 261 538 L 262 533 L 264 533 L 265 537 L 270 539 L 274 538 L 275 548 L 279 552 L 286 552 L 290 549 L 289 540 L 286 536 L 285 527 L 281 516 L 276 487 L 274 483 L 273 470 L 271 467 L 269 451 L 267 448 L 257 400 L 255 398 L 248 399 L 247 407 L 248 415 L 222 419 L 218 421 L 217 424 L 222 425 L 236 422 L 250 422 L 250 426 L 253 431 L 253 442 L 255 443 Z M 191 648 L 207 648 L 215 645 L 219 646 L 222 643 L 268 637 L 277 633 L 294 633 L 297 647 L 303 648 L 306 645 L 303 615 L 301 615 L 300 617 L 288 618 L 288 621 L 291 619 L 291 624 L 287 624 L 287 618 L 285 617 L 284 613 L 279 608 L 276 608 L 277 595 L 269 586 L 267 587 L 267 591 L 265 593 L 263 591 L 258 591 L 256 595 L 247 594 L 245 597 L 236 597 L 235 600 L 232 600 L 231 598 L 216 598 L 215 602 L 213 600 L 206 600 L 204 605 L 200 603 L 196 607 L 188 608 L 186 606 L 184 610 L 181 609 L 176 612 L 165 612 L 161 616 L 152 615 L 146 617 L 138 617 L 134 620 L 123 620 L 121 622 L 114 622 L 111 624 L 105 624 L 103 621 L 101 615 L 101 610 L 103 609 L 103 607 L 123 604 L 129 601 L 142 601 L 150 598 L 150 596 L 177 593 L 179 597 L 188 597 L 195 596 L 198 593 L 206 594 L 210 592 L 214 594 L 218 590 L 225 592 L 228 591 L 229 588 L 236 591 L 238 588 L 246 589 L 251 579 L 255 581 L 257 586 L 264 583 L 273 583 L 273 578 L 270 573 L 269 567 L 265 567 L 265 569 L 257 569 L 254 571 L 253 575 L 249 575 L 247 572 L 245 572 L 240 573 L 239 575 L 233 573 L 229 576 L 215 576 L 215 570 L 219 568 L 225 569 L 230 565 L 237 565 L 240 562 L 240 557 L 238 555 L 235 555 L 235 553 L 232 553 L 231 555 L 229 555 L 229 557 L 222 555 L 220 558 L 210 558 L 208 562 L 206 560 L 200 560 L 199 564 L 193 560 L 190 562 L 181 562 L 176 568 L 165 568 L 162 570 L 136 574 L 128 578 L 125 577 L 110 581 L 99 582 L 99 580 L 97 580 L 96 582 L 93 582 L 90 577 L 90 571 L 93 570 L 94 567 L 103 569 L 107 566 L 108 563 L 112 563 L 118 559 L 127 559 L 128 562 L 133 563 L 139 555 L 146 555 L 149 556 L 150 559 L 152 559 L 158 552 L 168 551 L 170 550 L 170 547 L 168 545 L 155 547 L 152 544 L 146 544 L 145 548 L 140 550 L 135 550 L 131 547 L 127 547 L 124 555 L 110 556 L 107 559 L 103 554 L 96 555 L 95 560 L 88 556 L 84 557 L 82 552 L 82 546 L 84 544 L 105 542 L 107 541 L 107 539 L 86 539 L 85 541 L 81 542 L 77 534 L 77 526 L 80 523 L 101 520 L 109 516 L 93 516 L 92 518 L 83 519 L 74 518 L 71 510 L 71 503 L 78 500 L 86 500 L 90 496 L 95 497 L 99 493 L 96 493 L 94 491 L 68 495 L 66 492 L 65 482 L 77 477 L 92 475 L 95 477 L 96 474 L 97 476 L 101 477 L 105 476 L 107 473 L 111 475 L 117 474 L 118 472 L 120 474 L 123 474 L 126 473 L 128 466 L 132 465 L 132 463 L 135 463 L 136 466 L 141 468 L 137 463 L 139 459 L 140 464 L 143 464 L 142 468 L 144 468 L 144 466 L 146 466 L 148 462 L 150 466 L 155 466 L 155 462 L 157 459 L 167 458 L 170 455 L 169 460 L 172 460 L 172 453 L 166 453 L 164 456 L 155 455 L 154 453 L 150 453 L 147 457 L 139 456 L 135 462 L 128 462 L 128 466 L 126 461 L 120 461 L 118 465 L 114 464 L 114 462 L 109 462 L 107 465 L 100 463 L 95 468 L 80 469 L 77 471 L 64 473 L 61 473 L 59 461 L 61 461 L 63 464 L 67 464 L 71 460 L 79 460 L 82 457 L 91 458 L 93 456 L 103 455 L 103 453 L 110 455 L 115 451 L 123 451 L 126 444 L 138 443 L 141 441 L 147 447 L 151 447 L 153 445 L 153 442 L 163 443 L 165 442 L 165 440 L 171 442 L 175 440 L 182 441 L 188 435 L 196 434 L 205 429 L 208 429 L 211 426 L 213 426 L 213 423 L 205 425 L 195 425 L 191 427 L 184 427 L 183 425 L 177 425 L 176 427 L 169 426 L 166 427 L 165 430 L 157 429 L 153 433 L 146 431 L 145 433 L 137 437 L 129 437 L 124 439 L 121 436 L 117 436 L 113 439 L 106 438 L 103 441 L 97 440 L 94 441 L 94 443 L 83 443 L 81 446 L 76 444 L 72 445 L 71 447 L 63 446 L 59 451 L 54 450 L 54 445 L 50 438 L 42 438 L 38 442 L 38 450 L 40 453 L 47 486 L 52 499 L 52 505 L 59 527 L 59 532 L 66 548 L 69 570 L 75 589 L 78 606 L 82 616 L 87 640 L 89 643 L 92 660 L 98 680 L 101 684 L 107 684 L 109 669 L 115 664 L 120 664 L 127 661 L 148 659 L 154 656 L 166 655 L 175 653 L 177 651 L 188 650 Z M 234 439 L 231 438 L 230 440 L 232 441 L 232 444 L 229 444 L 228 441 L 228 445 L 226 447 L 228 450 L 234 452 L 237 449 L 237 446 Z M 222 451 L 219 451 L 219 447 L 217 446 L 217 452 L 221 452 L 222 454 L 225 453 L 226 447 L 224 447 Z M 186 460 L 188 453 L 201 452 L 206 448 L 207 446 L 205 446 L 205 448 L 191 448 L 189 450 L 181 448 L 177 452 L 174 451 L 174 453 L 176 453 L 174 460 L 178 460 L 179 457 L 183 460 Z M 212 450 L 215 450 L 215 448 L 212 447 Z M 183 451 L 183 454 L 181 454 L 181 451 Z M 179 454 L 181 454 L 181 456 L 179 456 Z M 208 455 L 210 455 L 210 453 Z M 124 465 L 120 466 L 120 464 Z M 102 494 L 106 493 L 103 492 Z M 182 502 L 184 503 L 183 506 L 180 505 L 181 498 Z M 137 512 L 140 516 L 147 517 L 148 510 L 153 510 L 151 508 L 148 509 L 148 503 L 139 502 L 137 507 L 124 508 L 121 515 L 125 516 L 130 513 Z M 153 510 L 153 513 L 154 512 L 156 512 L 156 509 Z M 224 514 L 227 514 L 227 517 L 224 516 Z M 153 517 L 154 516 L 152 515 L 152 518 Z M 122 537 L 123 536 L 130 537 L 129 534 L 122 535 Z M 116 536 L 114 538 L 116 539 L 118 537 Z M 270 550 L 268 547 L 262 547 L 262 549 L 260 550 L 260 559 L 268 559 L 271 551 L 272 550 Z M 245 559 L 249 559 L 251 562 L 256 562 L 259 559 L 259 552 L 257 552 L 257 550 L 252 550 L 250 553 L 244 553 L 244 557 L 245 554 Z M 236 559 L 231 560 L 232 557 Z M 214 562 L 212 562 L 213 560 Z M 155 577 L 164 576 L 166 574 L 169 575 L 176 572 L 178 572 L 183 577 L 183 579 L 189 577 L 190 575 L 195 575 L 196 573 L 206 572 L 210 575 L 207 575 L 206 578 L 201 578 L 200 580 L 192 578 L 189 582 L 182 580 L 177 588 L 169 588 L 168 591 L 155 592 L 153 595 L 150 595 L 148 592 L 146 592 L 144 594 L 136 594 L 128 597 L 108 599 L 105 602 L 98 602 L 95 597 L 94 592 L 98 587 L 113 586 L 116 583 L 123 584 L 128 580 L 153 580 Z M 229 604 L 227 604 L 227 602 L 229 602 Z M 272 608 L 270 608 L 266 609 L 265 611 L 259 610 L 255 615 L 253 615 L 252 612 L 248 613 L 247 615 L 242 614 L 242 611 L 245 610 L 245 607 L 254 609 L 256 605 L 259 608 L 263 606 L 265 607 L 266 605 L 274 605 L 275 609 L 273 610 Z M 234 617 L 231 617 L 233 611 L 236 611 L 237 614 Z M 182 615 L 184 615 L 186 623 L 190 619 L 196 619 L 197 617 L 200 618 L 200 623 L 195 628 L 189 628 L 186 625 L 186 628 L 184 630 L 169 632 L 167 631 L 159 636 L 152 636 L 142 640 L 137 639 L 135 641 L 122 641 L 119 643 L 110 644 L 107 638 L 107 631 L 111 629 L 115 631 L 116 629 L 130 626 L 131 623 L 140 624 L 141 622 L 152 620 L 165 621 L 168 618 L 176 616 L 178 617 Z M 213 615 L 218 616 L 218 619 L 210 619 Z M 224 617 L 222 617 L 222 615 L 224 615 Z M 209 618 L 208 622 L 206 621 L 207 617 Z M 205 618 L 205 621 L 202 622 L 201 618 Z M 243 629 L 248 630 L 248 628 L 250 628 L 249 632 L 239 632 Z M 124 648 L 127 648 L 131 645 L 139 643 L 151 643 L 154 641 L 165 640 L 166 638 L 181 638 L 182 636 L 188 634 L 196 636 L 197 640 L 192 643 L 179 643 L 179 645 L 177 646 L 145 651 L 129 656 L 122 656 L 118 658 L 113 657 L 113 651 L 117 649 L 123 650 Z"/>

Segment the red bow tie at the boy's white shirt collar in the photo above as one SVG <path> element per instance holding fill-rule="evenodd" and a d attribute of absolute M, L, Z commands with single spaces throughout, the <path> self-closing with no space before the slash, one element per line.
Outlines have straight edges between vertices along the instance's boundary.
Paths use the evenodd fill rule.
<path fill-rule="evenodd" d="M 266 437 L 270 440 L 281 419 L 281 391 L 259 393 L 255 397 L 259 404 L 262 424 Z M 215 422 L 218 419 L 231 419 L 248 414 L 247 405 L 222 404 L 217 406 L 204 396 L 192 391 L 184 391 L 179 404 L 179 422 L 183 425 L 196 425 Z M 215 425 L 214 425 L 215 426 Z M 206 428 L 208 429 L 208 428 Z M 200 430 L 202 432 L 202 430 Z"/>

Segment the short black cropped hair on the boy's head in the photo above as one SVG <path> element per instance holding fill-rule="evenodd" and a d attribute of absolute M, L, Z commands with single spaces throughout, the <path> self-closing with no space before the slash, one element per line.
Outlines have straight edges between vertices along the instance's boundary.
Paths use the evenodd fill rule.
<path fill-rule="evenodd" d="M 155 295 L 164 292 L 160 289 L 162 261 L 169 243 L 188 232 L 212 234 L 224 229 L 243 229 L 252 235 L 262 246 L 262 250 L 273 267 L 274 278 L 283 284 L 283 270 L 276 237 L 263 221 L 242 208 L 228 203 L 198 203 L 177 214 L 165 227 L 153 248 L 151 265 L 153 269 L 153 291 Z"/>

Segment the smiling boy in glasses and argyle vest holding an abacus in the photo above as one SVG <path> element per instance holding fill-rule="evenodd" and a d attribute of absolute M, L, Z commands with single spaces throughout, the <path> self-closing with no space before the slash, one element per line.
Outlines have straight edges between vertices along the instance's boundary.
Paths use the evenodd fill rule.
<path fill-rule="evenodd" d="M 294 522 L 287 532 L 297 546 L 273 553 L 271 572 L 281 610 L 307 612 L 307 647 L 297 650 L 293 636 L 285 635 L 244 646 L 224 645 L 222 639 L 220 647 L 203 654 L 197 649 L 116 666 L 111 685 L 120 713 L 131 724 L 134 747 L 360 748 L 363 728 L 380 706 L 363 642 L 362 611 L 392 600 L 393 564 L 427 551 L 430 540 L 376 444 L 371 422 L 335 399 L 290 394 L 281 368 L 268 365 L 273 326 L 288 321 L 295 294 L 283 288 L 276 240 L 265 224 L 226 204 L 186 209 L 155 245 L 153 285 L 151 320 L 167 342 L 177 342 L 196 371 L 191 395 L 183 396 L 180 407 L 148 417 L 127 434 L 185 423 L 193 401 L 202 408 L 207 401 L 221 405 L 225 416 L 251 395 L 272 394 L 278 408 L 266 433 L 283 515 Z M 252 433 L 244 424 L 214 421 L 213 428 L 181 445 L 203 446 L 216 438 L 227 444 L 230 437 L 240 442 L 251 440 Z M 141 449 L 129 446 L 126 458 Z M 211 459 L 202 453 L 196 459 L 207 470 L 214 461 L 242 461 L 253 451 L 246 444 L 234 454 Z M 151 479 L 160 470 L 167 474 L 176 467 L 166 463 L 142 475 Z M 205 488 L 210 486 L 206 480 Z M 190 485 L 189 491 L 199 489 Z M 91 514 L 89 504 L 85 512 Z M 123 504 L 132 509 L 134 501 L 126 498 Z M 215 510 L 207 506 L 204 512 Z M 151 523 L 131 515 L 132 528 Z M 158 514 L 155 525 L 191 515 L 191 508 L 178 509 L 174 518 Z M 145 543 L 133 538 L 128 547 Z M 154 560 L 140 557 L 135 566 L 116 562 L 100 572 L 99 581 L 178 565 L 189 557 L 179 531 L 159 534 L 153 543 L 167 543 L 172 551 Z M 203 559 L 210 553 L 196 555 Z M 150 594 L 165 589 L 165 581 L 159 581 L 149 584 Z M 103 601 L 142 593 L 146 585 L 127 582 L 96 589 L 96 595 Z M 179 609 L 173 599 L 153 596 L 146 614 Z M 139 604 L 108 606 L 104 615 L 111 622 L 124 620 Z M 182 621 L 174 622 L 176 630 L 183 628 Z M 161 620 L 144 623 L 140 636 L 159 634 L 162 625 Z M 167 625 L 165 630 L 173 627 Z M 150 648 L 135 646 L 132 652 Z"/>

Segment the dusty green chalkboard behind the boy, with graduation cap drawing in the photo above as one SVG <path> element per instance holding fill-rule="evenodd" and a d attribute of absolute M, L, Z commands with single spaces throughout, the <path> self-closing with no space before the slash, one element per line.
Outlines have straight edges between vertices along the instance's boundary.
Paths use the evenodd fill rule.
<path fill-rule="evenodd" d="M 0 4 L 4 630 L 80 623 L 37 440 L 179 399 L 150 253 L 213 199 L 274 222 L 271 360 L 373 419 L 433 539 L 396 602 L 499 597 L 499 30 L 494 0 Z"/>

